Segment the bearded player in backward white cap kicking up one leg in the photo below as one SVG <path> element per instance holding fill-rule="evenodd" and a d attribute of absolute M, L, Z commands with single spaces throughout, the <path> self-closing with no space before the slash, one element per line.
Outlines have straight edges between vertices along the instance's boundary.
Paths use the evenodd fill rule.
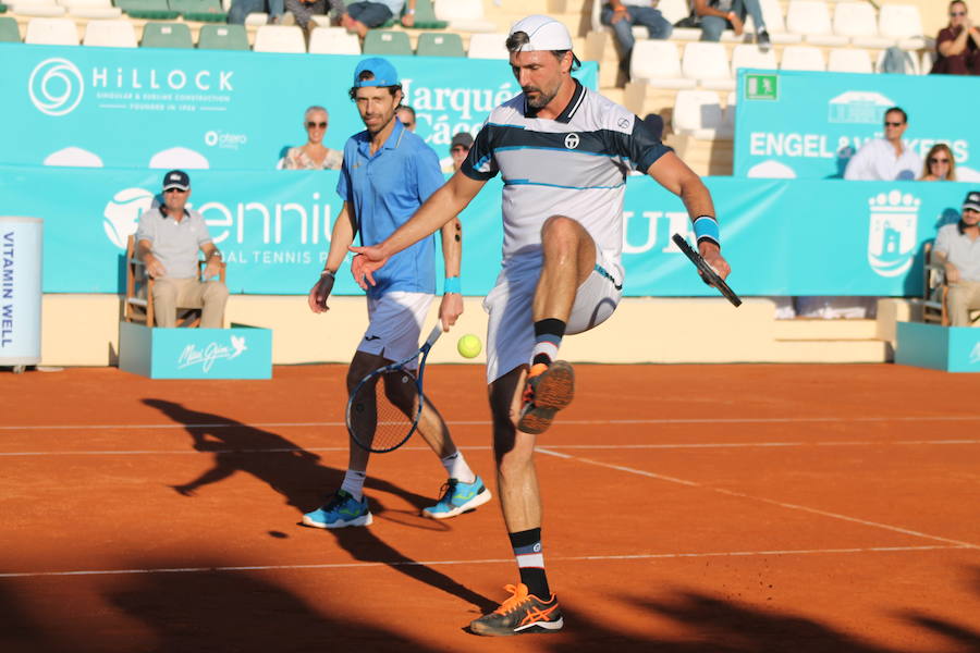
<path fill-rule="evenodd" d="M 544 575 L 537 435 L 572 402 L 562 337 L 605 321 L 623 289 L 623 199 L 639 169 L 679 195 L 698 249 L 724 278 L 711 195 L 701 180 L 630 111 L 572 76 L 568 29 L 542 15 L 517 22 L 506 41 L 524 93 L 493 109 L 463 167 L 392 235 L 353 247 L 363 286 L 389 257 L 451 223 L 491 177 L 503 177 L 503 261 L 487 295 L 487 382 L 500 503 L 520 581 L 478 634 L 554 632 L 564 620 Z"/>

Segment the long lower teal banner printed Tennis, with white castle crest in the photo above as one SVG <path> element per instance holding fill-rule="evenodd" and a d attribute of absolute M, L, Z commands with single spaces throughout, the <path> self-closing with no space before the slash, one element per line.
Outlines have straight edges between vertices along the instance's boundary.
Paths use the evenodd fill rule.
<path fill-rule="evenodd" d="M 334 193 L 338 174 L 192 174 L 189 205 L 204 214 L 225 255 L 232 293 L 309 291 L 341 208 Z M 960 202 L 972 187 L 734 177 L 706 183 L 734 270 L 730 285 L 747 296 L 916 295 L 921 292 L 922 243 L 940 225 L 959 219 Z M 160 187 L 158 171 L 0 167 L 7 212 L 45 221 L 46 293 L 121 293 L 126 237 Z M 671 234 L 690 230 L 676 196 L 648 177 L 629 177 L 623 215 L 627 296 L 716 295 L 670 241 Z M 499 178 L 485 186 L 461 219 L 464 293 L 483 295 L 500 270 Z M 346 266 L 335 292 L 362 292 Z"/>

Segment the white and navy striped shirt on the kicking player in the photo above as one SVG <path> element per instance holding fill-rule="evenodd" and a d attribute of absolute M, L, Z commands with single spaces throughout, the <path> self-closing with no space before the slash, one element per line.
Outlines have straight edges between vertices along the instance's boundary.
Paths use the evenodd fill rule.
<path fill-rule="evenodd" d="M 630 111 L 576 81 L 554 120 L 537 118 L 524 94 L 497 107 L 462 170 L 476 181 L 503 177 L 504 262 L 540 257 L 541 225 L 551 215 L 578 221 L 618 262 L 626 176 L 669 151 Z"/>

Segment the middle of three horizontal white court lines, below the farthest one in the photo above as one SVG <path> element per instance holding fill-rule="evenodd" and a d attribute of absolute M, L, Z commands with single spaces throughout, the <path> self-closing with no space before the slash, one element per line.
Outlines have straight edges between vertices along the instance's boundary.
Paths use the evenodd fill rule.
<path fill-rule="evenodd" d="M 891 442 L 842 441 L 842 442 L 714 442 L 675 444 L 549 444 L 546 449 L 689 449 L 689 448 L 792 448 L 807 446 L 884 446 L 884 445 L 930 445 L 930 444 L 980 444 L 980 440 L 894 440 Z M 186 456 L 196 454 L 290 454 L 297 452 L 346 453 L 347 446 L 290 446 L 278 448 L 216 448 L 216 449 L 97 449 L 97 451 L 52 451 L 52 452 L 0 452 L 0 457 L 19 456 Z M 468 451 L 487 451 L 487 445 L 461 446 Z M 543 453 L 554 453 L 539 447 Z M 429 452 L 427 446 L 403 446 L 403 452 Z"/>

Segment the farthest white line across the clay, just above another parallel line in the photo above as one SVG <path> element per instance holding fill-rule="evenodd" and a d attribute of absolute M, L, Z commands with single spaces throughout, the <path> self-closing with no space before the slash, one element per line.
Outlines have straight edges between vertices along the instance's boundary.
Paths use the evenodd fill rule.
<path fill-rule="evenodd" d="M 784 423 L 836 423 L 836 422 L 928 422 L 928 421 L 980 421 L 980 415 L 910 415 L 910 416 L 854 416 L 854 417 L 732 417 L 732 418 L 657 418 L 657 419 L 568 419 L 563 424 L 616 426 L 616 424 L 784 424 Z M 448 421 L 449 426 L 488 427 L 490 420 Z M 199 424 L 23 424 L 0 426 L 0 431 L 65 431 L 83 429 L 266 429 L 291 427 L 345 427 L 342 421 L 329 422 L 215 422 Z"/>

